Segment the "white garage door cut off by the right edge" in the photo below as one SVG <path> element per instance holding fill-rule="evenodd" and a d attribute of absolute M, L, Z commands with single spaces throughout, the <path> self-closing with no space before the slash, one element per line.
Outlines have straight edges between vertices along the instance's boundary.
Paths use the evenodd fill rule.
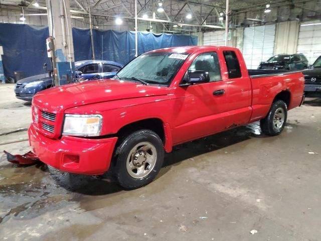
<path fill-rule="evenodd" d="M 319 22 L 306 22 L 302 25 Z M 321 55 L 321 25 L 302 25 L 299 31 L 297 53 L 304 54 L 309 64 L 313 64 L 316 58 Z"/>

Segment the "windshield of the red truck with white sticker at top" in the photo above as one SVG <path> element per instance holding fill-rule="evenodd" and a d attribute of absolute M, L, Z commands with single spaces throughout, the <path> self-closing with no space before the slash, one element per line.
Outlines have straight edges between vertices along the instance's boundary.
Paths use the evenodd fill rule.
<path fill-rule="evenodd" d="M 138 56 L 121 69 L 115 79 L 144 84 L 169 85 L 188 54 L 153 52 Z"/>

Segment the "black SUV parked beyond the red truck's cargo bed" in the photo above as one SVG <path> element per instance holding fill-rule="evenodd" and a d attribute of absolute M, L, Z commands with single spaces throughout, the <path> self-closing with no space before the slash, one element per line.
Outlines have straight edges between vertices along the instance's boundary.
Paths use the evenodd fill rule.
<path fill-rule="evenodd" d="M 302 70 L 308 68 L 308 61 L 303 54 L 278 54 L 261 62 L 257 69 Z"/>

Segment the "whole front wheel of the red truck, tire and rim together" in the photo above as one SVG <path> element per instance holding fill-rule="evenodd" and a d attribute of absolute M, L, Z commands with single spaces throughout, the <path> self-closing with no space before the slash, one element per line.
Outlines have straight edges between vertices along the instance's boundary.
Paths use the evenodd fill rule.
<path fill-rule="evenodd" d="M 145 186 L 163 166 L 163 142 L 153 131 L 135 131 L 120 141 L 113 161 L 112 175 L 120 186 L 125 189 Z"/>

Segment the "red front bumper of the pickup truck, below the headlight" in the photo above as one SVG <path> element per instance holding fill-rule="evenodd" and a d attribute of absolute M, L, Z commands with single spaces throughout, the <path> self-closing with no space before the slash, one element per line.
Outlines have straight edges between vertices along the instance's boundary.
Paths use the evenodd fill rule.
<path fill-rule="evenodd" d="M 32 151 L 39 159 L 62 171 L 84 175 L 101 175 L 109 169 L 117 137 L 86 139 L 62 136 L 50 139 L 33 125 L 28 130 Z"/>

